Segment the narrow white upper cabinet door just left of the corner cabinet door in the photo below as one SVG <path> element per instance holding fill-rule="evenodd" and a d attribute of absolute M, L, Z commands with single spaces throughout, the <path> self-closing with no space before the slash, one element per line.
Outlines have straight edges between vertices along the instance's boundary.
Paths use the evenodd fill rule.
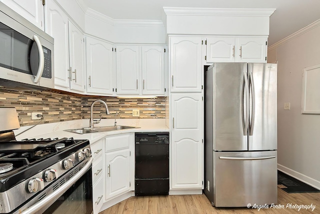
<path fill-rule="evenodd" d="M 84 92 L 85 46 L 84 36 L 70 21 L 69 24 L 69 65 L 70 89 Z"/>

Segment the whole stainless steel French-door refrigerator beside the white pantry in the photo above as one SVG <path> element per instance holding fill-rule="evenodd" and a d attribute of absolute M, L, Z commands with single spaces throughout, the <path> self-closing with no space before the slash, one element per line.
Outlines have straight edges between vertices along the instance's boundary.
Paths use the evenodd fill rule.
<path fill-rule="evenodd" d="M 205 72 L 204 193 L 214 206 L 277 203 L 276 64 Z"/>

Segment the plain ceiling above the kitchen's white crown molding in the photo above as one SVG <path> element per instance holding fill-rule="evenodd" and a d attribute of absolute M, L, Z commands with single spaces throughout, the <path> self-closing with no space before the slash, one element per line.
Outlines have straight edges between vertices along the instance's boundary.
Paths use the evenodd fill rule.
<path fill-rule="evenodd" d="M 78 0 L 112 19 L 161 20 L 162 7 L 276 9 L 270 17 L 268 45 L 320 19 L 320 0 Z"/>

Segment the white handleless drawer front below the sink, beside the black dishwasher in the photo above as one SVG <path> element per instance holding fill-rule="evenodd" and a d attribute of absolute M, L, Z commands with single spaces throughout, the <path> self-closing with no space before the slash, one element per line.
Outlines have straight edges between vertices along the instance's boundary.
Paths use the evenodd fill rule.
<path fill-rule="evenodd" d="M 117 134 L 105 138 L 105 152 L 129 148 L 130 133 L 128 134 Z"/>

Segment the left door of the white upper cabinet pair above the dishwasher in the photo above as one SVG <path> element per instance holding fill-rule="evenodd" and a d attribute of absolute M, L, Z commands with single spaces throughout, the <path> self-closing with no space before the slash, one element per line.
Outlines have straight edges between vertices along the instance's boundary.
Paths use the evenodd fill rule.
<path fill-rule="evenodd" d="M 115 53 L 116 94 L 139 95 L 139 47 L 117 46 Z"/>

